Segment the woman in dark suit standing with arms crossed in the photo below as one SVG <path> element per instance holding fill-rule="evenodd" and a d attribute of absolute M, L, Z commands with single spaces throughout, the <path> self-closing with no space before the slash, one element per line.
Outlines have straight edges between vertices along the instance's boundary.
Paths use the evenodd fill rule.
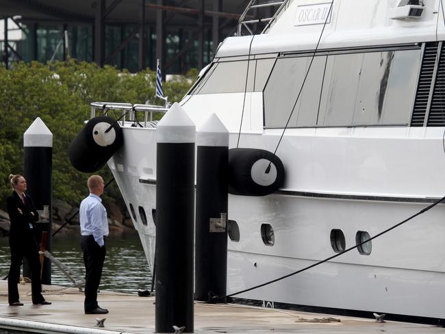
<path fill-rule="evenodd" d="M 11 220 L 10 248 L 11 266 L 8 275 L 8 301 L 10 306 L 21 306 L 18 299 L 17 283 L 20 279 L 20 267 L 25 257 L 31 268 L 31 296 L 34 305 L 49 305 L 42 296 L 40 284 L 40 260 L 38 246 L 34 236 L 34 222 L 38 221 L 38 212 L 31 196 L 25 194 L 26 180 L 21 175 L 10 175 L 14 191 L 6 201 Z"/>

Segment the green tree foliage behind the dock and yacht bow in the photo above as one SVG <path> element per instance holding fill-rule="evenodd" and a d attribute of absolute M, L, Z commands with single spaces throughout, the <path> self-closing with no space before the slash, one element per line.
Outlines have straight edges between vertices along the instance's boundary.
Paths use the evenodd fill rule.
<path fill-rule="evenodd" d="M 179 101 L 192 84 L 192 76 L 163 84 L 164 95 Z M 155 99 L 155 72 L 146 69 L 129 73 L 94 63 L 19 62 L 10 69 L 0 67 L 0 207 L 11 192 L 8 175 L 23 174 L 23 133 L 37 117 L 53 133 L 53 198 L 78 205 L 86 194 L 89 175 L 71 166 L 68 147 L 90 118 L 90 103 L 113 101 L 162 104 Z M 110 116 L 114 116 L 111 114 Z M 119 116 L 119 115 L 116 115 Z M 97 172 L 105 182 L 112 178 L 107 166 Z M 116 185 L 107 189 L 110 197 L 120 196 Z"/>

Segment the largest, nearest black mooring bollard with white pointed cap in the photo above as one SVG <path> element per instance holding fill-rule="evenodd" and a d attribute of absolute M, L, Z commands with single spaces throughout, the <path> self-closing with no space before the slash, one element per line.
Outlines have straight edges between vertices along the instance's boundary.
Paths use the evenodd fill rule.
<path fill-rule="evenodd" d="M 156 130 L 155 331 L 193 332 L 194 123 L 178 103 Z"/>

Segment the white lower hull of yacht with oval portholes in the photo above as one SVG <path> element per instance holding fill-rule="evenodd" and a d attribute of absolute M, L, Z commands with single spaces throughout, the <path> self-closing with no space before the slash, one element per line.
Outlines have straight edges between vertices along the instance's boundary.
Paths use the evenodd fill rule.
<path fill-rule="evenodd" d="M 329 129 L 333 133 L 333 129 Z M 233 294 L 249 287 L 266 283 L 272 279 L 291 274 L 335 254 L 332 231 L 340 230 L 344 234 L 344 248 L 357 244 L 357 233 L 366 231 L 370 236 L 377 235 L 418 213 L 440 198 L 440 192 L 428 196 L 422 193 L 422 186 L 416 188 L 417 196 L 404 193 L 409 173 L 415 173 L 429 159 L 428 147 L 441 145 L 441 131 L 431 130 L 428 135 L 415 138 L 409 129 L 399 130 L 404 133 L 395 138 L 386 138 L 379 147 L 381 138 L 372 138 L 373 133 L 381 129 L 344 133 L 334 140 L 326 133 L 304 132 L 287 136 L 284 145 L 294 142 L 294 150 L 284 150 L 280 155 L 287 172 L 287 182 L 304 175 L 307 170 L 318 166 L 316 171 L 323 177 L 323 182 L 304 179 L 301 188 L 283 188 L 268 196 L 229 195 L 229 220 L 236 222 L 239 228 L 239 242 L 229 239 L 227 255 L 227 292 Z M 387 130 L 389 131 L 389 130 Z M 396 133 L 397 131 L 395 131 Z M 131 216 L 140 235 L 144 252 L 153 268 L 155 256 L 155 129 L 135 129 L 124 127 L 125 145 L 108 162 L 125 203 L 132 212 Z M 389 133 L 389 132 L 388 132 Z M 394 131 L 393 131 L 394 133 Z M 292 135 L 292 133 L 291 133 Z M 425 136 L 429 137 L 429 146 L 423 146 Z M 387 136 L 390 137 L 390 136 Z M 421 137 L 421 138 L 420 138 Z M 231 143 L 236 134 L 231 135 Z M 252 146 L 270 149 L 277 136 L 251 135 L 244 138 Z M 325 141 L 325 143 L 323 143 Z M 338 173 L 329 181 L 329 173 L 341 163 L 348 151 L 364 151 L 365 146 L 372 146 L 375 158 L 372 164 L 379 167 L 379 172 L 388 172 L 403 161 L 400 153 L 404 143 L 410 142 L 406 155 L 418 154 L 409 167 L 399 170 L 398 179 L 403 182 L 381 183 L 377 186 L 384 192 L 346 192 L 349 189 L 366 189 L 369 180 Z M 413 143 L 413 141 L 415 143 Z M 322 148 L 309 155 L 305 145 L 318 142 Z M 434 143 L 431 145 L 431 143 Z M 300 147 L 300 149 L 298 149 Z M 333 147 L 335 150 L 333 151 Z M 414 151 L 412 151 L 414 150 Z M 365 150 L 366 151 L 366 150 Z M 338 154 L 338 160 L 332 157 Z M 331 157 L 331 164 L 325 162 L 326 155 Z M 443 153 L 442 153 L 443 155 Z M 436 159 L 430 168 L 433 175 L 440 175 L 444 158 Z M 296 158 L 299 157 L 299 158 Z M 408 159 L 405 157 L 405 159 Z M 349 159 L 348 169 L 360 171 L 363 160 Z M 292 166 L 292 168 L 290 167 Z M 312 166 L 312 167 L 311 167 Z M 377 167 L 376 167 L 377 166 Z M 443 169 L 442 169 L 443 170 Z M 314 173 L 314 170 L 311 171 Z M 373 170 L 375 175 L 376 170 Z M 381 174 L 381 179 L 387 179 Z M 428 179 L 428 175 L 425 176 Z M 379 180 L 373 177 L 375 183 Z M 397 180 L 397 178 L 395 179 Z M 382 181 L 383 182 L 383 181 Z M 437 178 L 443 184 L 443 177 Z M 303 185 L 317 185 L 311 189 Z M 324 185 L 324 189 L 322 188 Z M 342 187 L 340 186 L 342 185 Z M 334 188 L 341 191 L 333 192 Z M 434 186 L 429 189 L 434 189 Z M 412 185 L 411 185 L 411 189 Z M 130 205 L 133 207 L 131 210 Z M 145 216 L 143 218 L 142 216 Z M 288 277 L 276 283 L 266 285 L 234 297 L 254 300 L 266 300 L 294 305 L 330 307 L 358 311 L 394 313 L 405 316 L 443 318 L 442 296 L 445 295 L 445 255 L 443 238 L 445 235 L 445 207 L 437 205 L 431 210 L 405 222 L 396 229 L 372 240 L 369 255 L 361 254 L 357 248 L 320 264 L 309 270 Z M 270 224 L 274 231 L 274 244 L 270 246 L 262 237 L 262 224 Z M 337 250 L 338 252 L 338 250 Z"/>

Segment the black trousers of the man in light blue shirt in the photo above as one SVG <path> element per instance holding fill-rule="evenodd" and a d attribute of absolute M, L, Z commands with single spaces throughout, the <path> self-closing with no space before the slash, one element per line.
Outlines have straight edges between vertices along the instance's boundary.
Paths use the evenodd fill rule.
<path fill-rule="evenodd" d="M 105 261 L 105 240 L 103 246 L 99 246 L 92 235 L 81 237 L 81 248 L 84 252 L 85 264 L 85 311 L 91 311 L 99 307 L 97 304 L 97 290 L 101 283 L 103 261 Z"/>

